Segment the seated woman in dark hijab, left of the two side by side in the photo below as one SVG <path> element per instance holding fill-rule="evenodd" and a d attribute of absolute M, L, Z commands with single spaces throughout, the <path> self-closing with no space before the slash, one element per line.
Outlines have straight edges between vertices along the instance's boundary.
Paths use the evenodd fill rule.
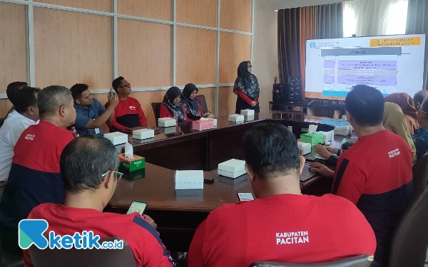
<path fill-rule="evenodd" d="M 178 122 L 189 121 L 181 101 L 181 91 L 178 87 L 171 87 L 166 91 L 159 108 L 159 117 L 172 117 Z"/>

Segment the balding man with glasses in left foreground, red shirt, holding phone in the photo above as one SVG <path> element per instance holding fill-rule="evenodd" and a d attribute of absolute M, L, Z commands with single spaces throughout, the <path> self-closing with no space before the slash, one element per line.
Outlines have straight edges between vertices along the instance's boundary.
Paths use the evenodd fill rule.
<path fill-rule="evenodd" d="M 54 231 L 56 235 L 93 231 L 101 238 L 121 238 L 128 242 L 138 267 L 175 266 L 149 216 L 103 212 L 121 179 L 121 173 L 116 172 L 118 167 L 116 149 L 106 138 L 86 136 L 73 140 L 61 154 L 65 203 L 36 206 L 29 219 L 45 219 L 49 223 L 46 232 Z M 28 250 L 24 250 L 24 263 L 33 266 Z"/>

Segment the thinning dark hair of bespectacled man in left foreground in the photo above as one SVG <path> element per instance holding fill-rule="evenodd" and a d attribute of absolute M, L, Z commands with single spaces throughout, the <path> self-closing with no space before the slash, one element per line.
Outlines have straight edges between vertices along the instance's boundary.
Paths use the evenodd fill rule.
<path fill-rule="evenodd" d="M 116 171 L 119 157 L 110 140 L 100 136 L 78 137 L 66 145 L 59 161 L 68 192 L 98 189 L 108 171 Z"/>

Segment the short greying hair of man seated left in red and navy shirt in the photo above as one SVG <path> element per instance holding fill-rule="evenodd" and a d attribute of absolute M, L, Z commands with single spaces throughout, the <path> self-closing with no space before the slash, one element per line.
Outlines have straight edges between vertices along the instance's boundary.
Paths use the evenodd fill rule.
<path fill-rule="evenodd" d="M 39 116 L 53 115 L 62 105 L 68 105 L 71 91 L 60 85 L 51 85 L 40 91 L 37 97 Z"/>

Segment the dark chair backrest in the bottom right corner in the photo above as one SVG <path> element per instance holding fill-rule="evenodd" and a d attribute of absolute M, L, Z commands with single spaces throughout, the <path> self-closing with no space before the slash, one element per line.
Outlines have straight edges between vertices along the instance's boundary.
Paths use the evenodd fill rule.
<path fill-rule="evenodd" d="M 428 246 L 428 186 L 414 199 L 392 239 L 389 267 L 424 266 Z"/>

